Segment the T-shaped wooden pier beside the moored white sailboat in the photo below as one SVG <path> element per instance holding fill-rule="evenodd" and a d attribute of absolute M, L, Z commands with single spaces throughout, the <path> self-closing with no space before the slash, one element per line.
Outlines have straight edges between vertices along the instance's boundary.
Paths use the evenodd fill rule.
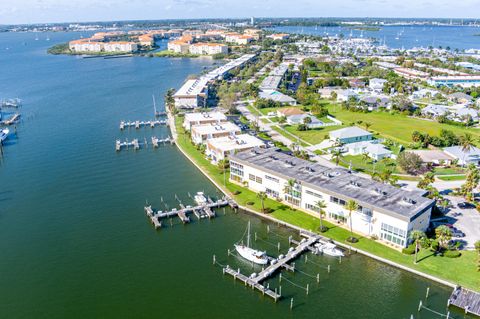
<path fill-rule="evenodd" d="M 263 295 L 267 295 L 273 298 L 275 302 L 277 302 L 277 300 L 282 297 L 281 291 L 277 292 L 276 289 L 275 291 L 273 291 L 270 289 L 269 286 L 265 287 L 264 285 L 262 285 L 262 282 L 273 276 L 281 268 L 295 271 L 295 266 L 289 265 L 289 262 L 296 259 L 304 251 L 315 249 L 312 246 L 321 240 L 320 236 L 316 236 L 313 234 L 310 235 L 307 233 L 300 233 L 300 235 L 305 238 L 303 238 L 299 242 L 289 239 L 289 242 L 295 243 L 296 247 L 291 247 L 288 250 L 287 254 L 280 255 L 278 259 L 271 260 L 270 265 L 267 268 L 262 268 L 262 271 L 258 274 L 253 273 L 250 276 L 246 276 L 240 272 L 240 269 L 234 270 L 229 265 L 223 267 L 223 273 L 233 276 L 234 279 L 242 281 L 243 283 L 245 283 L 246 286 L 252 287 L 252 289 L 257 289 Z"/>

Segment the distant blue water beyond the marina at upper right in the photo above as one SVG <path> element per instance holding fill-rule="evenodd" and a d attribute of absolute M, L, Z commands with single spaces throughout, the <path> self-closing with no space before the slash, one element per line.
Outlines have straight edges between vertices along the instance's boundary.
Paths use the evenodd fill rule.
<path fill-rule="evenodd" d="M 276 27 L 279 32 L 313 35 L 340 35 L 349 37 L 375 38 L 392 48 L 411 49 L 413 47 L 449 46 L 452 50 L 480 49 L 480 28 L 461 26 L 384 26 L 379 31 L 359 31 L 348 27 Z M 396 37 L 399 39 L 397 40 Z"/>

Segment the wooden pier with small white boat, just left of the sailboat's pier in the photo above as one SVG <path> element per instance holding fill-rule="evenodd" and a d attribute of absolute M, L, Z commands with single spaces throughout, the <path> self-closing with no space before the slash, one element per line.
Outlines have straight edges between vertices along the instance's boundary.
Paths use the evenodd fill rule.
<path fill-rule="evenodd" d="M 168 211 L 154 210 L 151 205 L 145 206 L 145 214 L 150 218 L 152 224 L 155 226 L 155 229 L 162 227 L 162 220 L 170 217 L 178 217 L 180 221 L 184 224 L 190 222 L 190 214 L 194 214 L 197 218 L 215 217 L 214 208 L 220 208 L 230 206 L 232 208 L 238 207 L 237 204 L 229 198 L 222 198 L 217 201 L 209 200 L 208 203 L 197 206 L 184 206 L 180 204 L 180 209 L 172 209 Z"/>

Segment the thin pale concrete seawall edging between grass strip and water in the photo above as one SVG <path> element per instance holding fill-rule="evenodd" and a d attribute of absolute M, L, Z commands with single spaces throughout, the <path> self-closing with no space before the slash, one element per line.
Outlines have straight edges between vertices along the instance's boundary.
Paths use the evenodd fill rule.
<path fill-rule="evenodd" d="M 172 136 L 174 136 L 174 139 L 176 140 L 178 135 L 177 135 L 177 132 L 176 132 L 176 127 L 175 127 L 175 116 L 172 115 L 170 113 L 170 111 L 167 111 L 167 116 L 168 116 L 168 119 L 169 119 L 169 122 L 170 122 L 170 131 L 172 133 Z M 173 124 L 173 127 L 172 127 L 172 124 Z M 207 177 L 207 179 L 213 184 L 215 185 L 216 188 L 218 188 L 223 194 L 225 194 L 226 196 L 229 196 L 231 198 L 233 198 L 233 194 L 231 194 L 228 190 L 224 189 L 222 187 L 222 185 L 218 184 L 212 177 L 210 177 L 208 175 L 207 172 L 205 172 L 196 162 L 193 158 L 191 158 L 189 156 L 189 154 L 182 149 L 182 147 L 180 145 L 178 145 L 178 143 L 176 143 L 176 146 L 177 148 L 180 150 L 180 152 L 205 176 Z M 238 203 L 237 203 L 238 204 Z M 297 231 L 300 231 L 300 230 L 303 230 L 303 231 L 309 231 L 308 229 L 303 229 L 301 227 L 298 227 L 298 226 L 295 226 L 295 225 L 292 225 L 290 223 L 287 223 L 287 222 L 284 222 L 282 220 L 279 220 L 275 217 L 272 217 L 272 216 L 269 216 L 269 215 L 266 215 L 266 214 L 262 214 L 260 212 L 257 212 L 255 210 L 253 210 L 252 208 L 249 208 L 249 207 L 246 207 L 246 206 L 242 206 L 240 204 L 238 204 L 238 208 L 239 209 L 242 209 L 248 213 L 251 213 L 251 214 L 254 214 L 255 216 L 257 217 L 260 217 L 260 218 L 264 218 L 266 220 L 269 220 L 271 222 L 274 222 L 274 223 L 277 223 L 279 225 L 282 225 L 282 226 L 285 226 L 285 227 L 288 227 L 288 228 L 291 228 L 293 230 L 297 230 Z M 321 235 L 320 235 L 321 236 Z M 327 237 L 328 238 L 328 237 Z M 329 238 L 330 239 L 330 238 Z M 379 257 L 379 256 L 376 256 L 372 253 L 369 253 L 369 252 L 366 252 L 364 250 L 361 250 L 361 249 L 357 249 L 353 246 L 350 246 L 350 245 L 347 245 L 345 243 L 341 243 L 341 242 L 337 242 L 335 240 L 333 240 L 333 242 L 336 244 L 336 245 L 339 245 L 343 248 L 346 248 L 346 249 L 350 249 L 352 252 L 356 252 L 356 253 L 360 253 L 364 256 L 367 256 L 367 257 L 370 257 L 374 260 L 377 260 L 379 262 L 382 262 L 384 264 L 387 264 L 387 265 L 390 265 L 390 266 L 393 266 L 395 268 L 398 268 L 398 269 L 402 269 L 404 271 L 408 271 L 412 274 L 415 274 L 417 276 L 421 276 L 423 278 L 426 278 L 426 279 L 429 279 L 429 280 L 432 280 L 434 282 L 437 282 L 439 284 L 442 284 L 444 286 L 447 286 L 447 287 L 450 287 L 450 288 L 453 288 L 455 289 L 458 285 L 457 284 L 454 284 L 448 280 L 444 280 L 444 279 L 441 279 L 441 278 L 438 278 L 438 277 L 435 277 L 433 275 L 429 275 L 429 274 L 426 274 L 424 272 L 421 272 L 419 270 L 415 270 L 415 269 L 412 269 L 410 267 L 407 267 L 407 266 L 404 266 L 404 265 L 401 265 L 401 264 L 398 264 L 396 262 L 393 262 L 391 260 L 388 260 L 388 259 L 385 259 L 385 258 L 382 258 L 382 257 Z"/>

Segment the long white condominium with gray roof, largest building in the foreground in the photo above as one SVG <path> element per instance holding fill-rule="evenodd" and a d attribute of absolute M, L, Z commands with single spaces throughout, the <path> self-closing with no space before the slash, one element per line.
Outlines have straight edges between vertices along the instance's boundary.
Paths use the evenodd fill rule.
<path fill-rule="evenodd" d="M 318 216 L 317 203 L 322 201 L 327 220 L 345 226 L 351 223 L 355 232 L 398 248 L 408 245 L 410 231 L 428 228 L 434 206 L 424 191 L 396 188 L 278 149 L 231 154 L 230 179 L 313 216 Z M 349 200 L 358 205 L 351 214 L 345 207 Z"/>

